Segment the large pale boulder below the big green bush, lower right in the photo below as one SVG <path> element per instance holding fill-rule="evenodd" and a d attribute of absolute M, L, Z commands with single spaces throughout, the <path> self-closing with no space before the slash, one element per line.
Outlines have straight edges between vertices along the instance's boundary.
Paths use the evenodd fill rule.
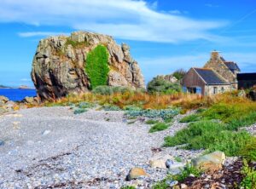
<path fill-rule="evenodd" d="M 191 160 L 193 166 L 203 170 L 218 170 L 225 161 L 224 152 L 216 151 Z"/>

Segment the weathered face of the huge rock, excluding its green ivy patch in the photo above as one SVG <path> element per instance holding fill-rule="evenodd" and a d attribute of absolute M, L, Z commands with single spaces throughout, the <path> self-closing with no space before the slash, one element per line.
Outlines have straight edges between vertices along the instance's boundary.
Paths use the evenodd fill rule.
<path fill-rule="evenodd" d="M 126 44 L 119 46 L 110 36 L 76 31 L 70 37 L 49 37 L 39 42 L 32 63 L 38 97 L 50 100 L 87 91 L 90 79 L 84 72 L 86 57 L 99 44 L 108 49 L 108 85 L 145 88 L 140 68 Z"/>

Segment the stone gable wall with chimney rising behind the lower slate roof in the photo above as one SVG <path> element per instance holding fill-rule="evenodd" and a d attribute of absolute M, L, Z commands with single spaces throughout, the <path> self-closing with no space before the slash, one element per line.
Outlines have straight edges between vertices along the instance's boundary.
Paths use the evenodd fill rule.
<path fill-rule="evenodd" d="M 212 52 L 211 59 L 207 61 L 204 68 L 212 68 L 212 70 L 224 77 L 224 79 L 230 83 L 236 83 L 236 75 L 231 72 L 228 66 L 224 64 L 223 60 L 220 59 L 218 52 Z"/>

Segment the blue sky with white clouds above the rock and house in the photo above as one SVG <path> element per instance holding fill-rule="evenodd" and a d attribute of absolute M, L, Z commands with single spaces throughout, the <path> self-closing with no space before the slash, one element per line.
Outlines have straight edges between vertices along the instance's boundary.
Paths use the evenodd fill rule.
<path fill-rule="evenodd" d="M 256 72 L 255 0 L 0 0 L 0 84 L 32 86 L 38 41 L 72 31 L 129 44 L 146 82 L 203 66 L 214 49 Z"/>

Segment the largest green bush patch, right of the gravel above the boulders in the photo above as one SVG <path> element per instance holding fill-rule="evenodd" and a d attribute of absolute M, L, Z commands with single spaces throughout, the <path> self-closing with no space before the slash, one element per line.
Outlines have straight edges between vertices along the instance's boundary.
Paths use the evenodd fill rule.
<path fill-rule="evenodd" d="M 184 145 L 186 149 L 207 149 L 208 152 L 222 151 L 227 156 L 237 156 L 252 136 L 247 132 L 226 130 L 223 123 L 203 121 L 190 123 L 174 136 L 165 138 L 164 146 Z"/>

